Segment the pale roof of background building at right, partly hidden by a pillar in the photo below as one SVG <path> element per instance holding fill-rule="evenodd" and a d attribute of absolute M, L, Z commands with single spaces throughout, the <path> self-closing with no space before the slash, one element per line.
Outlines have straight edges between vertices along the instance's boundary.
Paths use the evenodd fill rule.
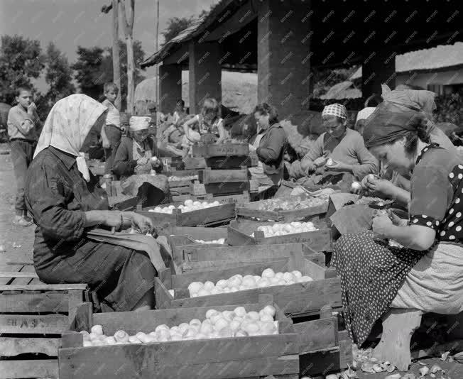
<path fill-rule="evenodd" d="M 396 72 L 437 70 L 463 65 L 463 42 L 396 55 Z M 361 66 L 349 78 L 361 78 Z"/>

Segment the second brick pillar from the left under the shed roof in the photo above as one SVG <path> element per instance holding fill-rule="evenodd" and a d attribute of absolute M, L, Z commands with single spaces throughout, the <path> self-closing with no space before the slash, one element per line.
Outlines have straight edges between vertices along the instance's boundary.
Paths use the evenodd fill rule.
<path fill-rule="evenodd" d="M 190 43 L 190 114 L 199 113 L 202 101 L 208 97 L 222 101 L 222 67 L 219 60 L 219 43 Z"/>

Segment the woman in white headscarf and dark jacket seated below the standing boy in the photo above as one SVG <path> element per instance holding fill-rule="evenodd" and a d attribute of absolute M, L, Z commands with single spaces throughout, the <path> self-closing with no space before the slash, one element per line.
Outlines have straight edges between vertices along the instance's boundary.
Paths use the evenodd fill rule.
<path fill-rule="evenodd" d="M 149 174 L 151 170 L 161 172 L 163 163 L 158 158 L 158 146 L 148 134 L 150 117 L 132 116 L 129 121 L 130 136 L 122 137 L 116 152 L 112 171 L 125 180 L 134 174 Z"/>

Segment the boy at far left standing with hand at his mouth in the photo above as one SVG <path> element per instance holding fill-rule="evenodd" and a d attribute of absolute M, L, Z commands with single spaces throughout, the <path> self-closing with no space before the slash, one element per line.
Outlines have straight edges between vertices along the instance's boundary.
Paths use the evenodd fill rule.
<path fill-rule="evenodd" d="M 11 160 L 13 161 L 17 187 L 16 216 L 13 224 L 29 226 L 32 224 L 32 219 L 27 216 L 26 203 L 24 202 L 24 181 L 36 149 L 42 123 L 36 111 L 36 104 L 33 103 L 30 87 L 18 87 L 16 89 L 16 101 L 18 105 L 10 109 L 7 121 Z"/>

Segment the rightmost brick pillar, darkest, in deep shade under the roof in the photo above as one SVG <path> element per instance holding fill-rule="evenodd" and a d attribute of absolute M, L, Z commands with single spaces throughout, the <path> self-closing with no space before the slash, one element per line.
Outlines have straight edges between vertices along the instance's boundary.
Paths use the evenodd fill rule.
<path fill-rule="evenodd" d="M 366 50 L 361 67 L 361 94 L 381 95 L 381 84 L 396 87 L 396 53 L 389 49 Z"/>

